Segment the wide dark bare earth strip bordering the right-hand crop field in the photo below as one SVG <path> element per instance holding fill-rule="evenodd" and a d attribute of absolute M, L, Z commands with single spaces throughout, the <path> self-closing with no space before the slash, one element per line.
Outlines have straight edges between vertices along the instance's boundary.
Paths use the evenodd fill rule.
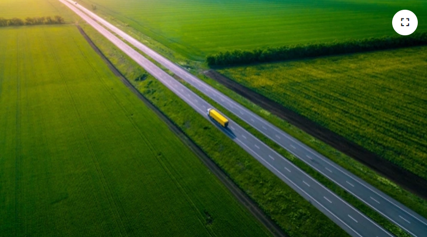
<path fill-rule="evenodd" d="M 316 122 L 297 114 L 296 112 L 284 107 L 283 105 L 273 101 L 243 85 L 233 81 L 232 79 L 223 76 L 215 70 L 204 72 L 206 76 L 225 85 L 237 94 L 249 99 L 252 103 L 261 106 L 263 109 L 276 115 L 277 117 L 288 121 L 290 124 L 298 127 L 300 130 L 310 134 L 311 136 L 327 143 L 340 152 L 348 155 L 362 164 L 370 167 L 378 174 L 387 177 L 402 188 L 409 190 L 416 195 L 427 200 L 427 181 L 423 178 L 411 173 L 410 171 L 393 164 L 392 162 L 381 158 L 380 156 L 370 152 L 364 147 L 344 138 L 325 128 Z"/>

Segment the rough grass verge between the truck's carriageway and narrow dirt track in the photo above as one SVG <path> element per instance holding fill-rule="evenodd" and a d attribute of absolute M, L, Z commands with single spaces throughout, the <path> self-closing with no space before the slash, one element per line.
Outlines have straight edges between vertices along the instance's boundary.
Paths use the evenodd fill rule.
<path fill-rule="evenodd" d="M 98 37 L 99 33 L 90 26 L 82 27 L 120 72 L 204 150 L 290 236 L 348 236 L 245 150 L 226 135 L 219 133 L 209 121 L 159 81 L 152 76 L 144 81 L 135 81 L 134 78 L 144 71 L 111 42 Z"/>

